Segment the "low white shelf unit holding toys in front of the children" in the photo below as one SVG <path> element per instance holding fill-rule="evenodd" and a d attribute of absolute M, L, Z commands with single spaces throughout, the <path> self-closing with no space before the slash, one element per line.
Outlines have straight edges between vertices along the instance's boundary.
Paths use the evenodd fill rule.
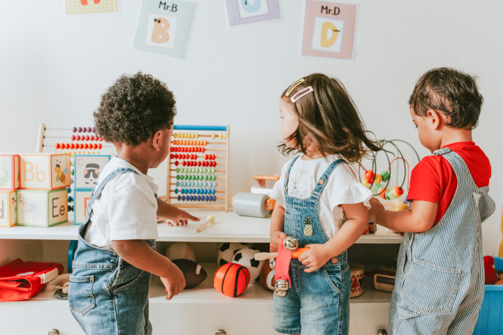
<path fill-rule="evenodd" d="M 216 243 L 219 242 L 270 241 L 270 218 L 250 218 L 224 211 L 190 212 L 202 218 L 212 214 L 215 221 L 201 233 L 196 232 L 198 223 L 177 227 L 160 223 L 158 246 L 167 245 L 163 242 L 186 241 L 193 246 L 201 244 L 201 248 L 195 249 L 196 254 L 203 254 L 209 246 L 216 253 Z M 59 248 L 58 254 L 64 252 L 64 246 L 68 246 L 66 242 L 76 239 L 78 228 L 79 226 L 73 225 L 72 222 L 50 228 L 0 228 L 1 265 L 17 257 L 22 257 L 23 260 L 52 261 L 50 256 L 56 254 L 52 249 Z M 398 246 L 401 241 L 400 234 L 379 227 L 377 233 L 363 235 L 356 243 L 362 244 L 366 250 L 366 244 L 380 244 L 386 248 L 393 244 Z M 159 251 L 162 252 L 162 247 Z M 5 254 L 7 252 L 8 255 Z M 66 257 L 66 253 L 63 257 Z M 210 335 L 217 329 L 224 329 L 226 334 L 230 335 L 277 334 L 272 329 L 273 306 L 270 290 L 265 290 L 255 283 L 249 285 L 240 297 L 226 297 L 214 290 L 212 285 L 212 276 L 218 267 L 216 255 L 214 262 L 201 262 L 201 265 L 207 271 L 206 280 L 196 288 L 184 290 L 170 301 L 166 300 L 166 293 L 159 278 L 152 276 L 149 299 L 154 334 Z M 15 334 L 45 334 L 54 328 L 59 329 L 59 334 L 83 334 L 69 311 L 68 301 L 55 299 L 52 295 L 53 292 L 43 291 L 29 301 L 1 303 L 1 315 L 5 320 L 12 320 L 4 330 Z M 366 278 L 364 294 L 350 301 L 350 334 L 377 334 L 378 329 L 387 329 L 390 302 L 391 293 L 374 290 L 372 281 Z M 22 315 L 35 316 L 33 322 L 23 322 Z M 194 315 L 197 317 L 193 318 Z M 362 318 L 365 322 L 362 322 Z"/>

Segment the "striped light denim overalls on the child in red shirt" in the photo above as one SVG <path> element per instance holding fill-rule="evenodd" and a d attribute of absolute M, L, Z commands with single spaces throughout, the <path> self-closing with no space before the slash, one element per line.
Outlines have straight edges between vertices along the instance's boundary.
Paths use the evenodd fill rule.
<path fill-rule="evenodd" d="M 465 161 L 444 156 L 458 179 L 451 205 L 427 232 L 405 233 L 389 316 L 390 335 L 472 334 L 484 295 L 481 223 L 495 211 Z"/>

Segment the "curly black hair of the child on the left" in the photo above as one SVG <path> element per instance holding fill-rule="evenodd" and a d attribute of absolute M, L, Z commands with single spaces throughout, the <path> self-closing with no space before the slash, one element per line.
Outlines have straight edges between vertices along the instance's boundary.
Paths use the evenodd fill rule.
<path fill-rule="evenodd" d="M 136 147 L 156 131 L 170 129 L 176 115 L 173 92 L 141 71 L 121 75 L 101 96 L 94 112 L 96 135 L 106 142 Z"/>

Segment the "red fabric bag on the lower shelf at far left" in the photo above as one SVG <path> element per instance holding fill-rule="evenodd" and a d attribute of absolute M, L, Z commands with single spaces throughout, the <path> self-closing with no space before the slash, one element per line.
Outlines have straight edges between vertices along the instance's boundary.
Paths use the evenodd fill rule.
<path fill-rule="evenodd" d="M 0 267 L 0 301 L 27 300 L 62 272 L 59 263 L 23 262 L 17 258 Z"/>

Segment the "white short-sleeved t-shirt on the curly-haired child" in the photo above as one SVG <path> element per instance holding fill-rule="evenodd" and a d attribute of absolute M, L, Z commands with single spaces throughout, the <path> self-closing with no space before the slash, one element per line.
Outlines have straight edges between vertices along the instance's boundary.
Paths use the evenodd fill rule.
<path fill-rule="evenodd" d="M 101 248 L 112 248 L 112 241 L 157 239 L 157 200 L 159 186 L 130 163 L 114 157 L 105 165 L 97 184 L 112 171 L 129 168 L 138 172 L 118 174 L 108 181 L 92 205 L 85 241 Z"/>

